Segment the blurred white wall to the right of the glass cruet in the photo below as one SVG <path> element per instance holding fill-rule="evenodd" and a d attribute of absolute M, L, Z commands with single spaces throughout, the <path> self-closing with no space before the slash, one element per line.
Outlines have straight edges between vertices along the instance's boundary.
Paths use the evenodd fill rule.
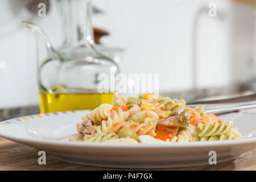
<path fill-rule="evenodd" d="M 159 73 L 161 90 L 192 88 L 194 22 L 196 13 L 201 8 L 209 10 L 210 3 L 216 3 L 217 17 L 209 17 L 208 11 L 199 16 L 196 31 L 196 86 L 211 88 L 229 84 L 233 81 L 233 76 L 230 75 L 233 73 L 232 61 L 241 61 L 253 54 L 245 50 L 253 48 L 248 40 L 252 38 L 254 31 L 254 8 L 250 6 L 231 1 L 205 0 L 94 2 L 106 10 L 106 15 L 94 16 L 93 23 L 111 32 L 102 42 L 126 45 L 122 71 Z M 242 14 L 245 18 L 234 19 L 238 18 L 237 14 Z M 243 33 L 234 35 L 233 29 Z M 241 40 L 234 42 L 236 38 L 233 36 L 245 40 L 243 50 L 238 53 L 242 56 L 240 59 L 234 58 L 237 53 L 233 51 L 238 50 L 232 45 L 241 44 Z M 244 65 L 243 61 L 238 64 L 237 69 L 241 65 Z M 247 69 L 244 68 L 241 72 L 245 70 Z M 241 74 L 236 78 L 243 77 Z M 247 76 L 246 79 L 248 78 Z"/>

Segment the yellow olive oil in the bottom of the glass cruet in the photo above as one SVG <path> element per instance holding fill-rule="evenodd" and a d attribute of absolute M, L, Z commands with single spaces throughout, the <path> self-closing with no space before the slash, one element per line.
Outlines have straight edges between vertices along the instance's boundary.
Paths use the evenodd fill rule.
<path fill-rule="evenodd" d="M 102 94 L 46 94 L 40 93 L 41 113 L 94 109 L 101 104 L 112 104 L 113 93 Z"/>

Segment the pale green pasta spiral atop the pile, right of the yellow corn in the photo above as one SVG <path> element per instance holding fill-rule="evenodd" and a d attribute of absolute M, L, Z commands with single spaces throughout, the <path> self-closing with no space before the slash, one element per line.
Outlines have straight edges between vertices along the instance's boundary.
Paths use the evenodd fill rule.
<path fill-rule="evenodd" d="M 177 100 L 176 98 L 171 99 L 170 97 L 158 97 L 154 99 L 154 102 L 164 105 L 164 110 L 178 110 L 182 109 L 186 105 L 186 101 L 181 99 Z"/>

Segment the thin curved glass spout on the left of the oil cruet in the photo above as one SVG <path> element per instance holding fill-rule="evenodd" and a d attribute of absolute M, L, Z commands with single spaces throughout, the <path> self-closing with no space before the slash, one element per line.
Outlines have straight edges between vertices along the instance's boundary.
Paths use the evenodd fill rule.
<path fill-rule="evenodd" d="M 51 42 L 49 42 L 49 39 L 40 27 L 36 26 L 36 24 L 34 23 L 27 21 L 23 21 L 22 25 L 23 27 L 30 28 L 32 32 L 34 32 L 34 35 L 36 37 L 36 50 L 39 65 L 40 61 L 46 60 L 49 57 L 53 57 L 53 55 L 55 55 L 55 51 L 52 48 Z"/>

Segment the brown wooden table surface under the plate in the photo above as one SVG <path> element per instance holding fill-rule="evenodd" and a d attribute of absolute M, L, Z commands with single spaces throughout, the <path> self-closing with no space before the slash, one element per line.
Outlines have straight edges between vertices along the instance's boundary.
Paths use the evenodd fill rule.
<path fill-rule="evenodd" d="M 38 150 L 33 147 L 15 143 L 0 137 L 0 170 L 120 170 L 81 166 L 61 162 L 52 155 L 47 155 L 46 165 L 38 164 Z M 122 170 L 122 169 L 121 169 Z M 160 170 L 255 170 L 256 148 L 240 156 L 240 158 L 213 166 L 171 168 Z"/>

